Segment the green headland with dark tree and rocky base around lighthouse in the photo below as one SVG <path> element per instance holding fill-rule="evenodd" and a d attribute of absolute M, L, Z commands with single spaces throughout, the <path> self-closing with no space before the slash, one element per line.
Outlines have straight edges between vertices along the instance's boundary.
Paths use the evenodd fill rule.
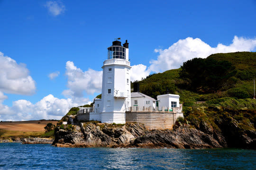
<path fill-rule="evenodd" d="M 252 99 L 255 77 L 256 52 L 189 60 L 179 69 L 152 74 L 138 82 L 140 92 L 153 98 L 165 94 L 166 88 L 181 96 L 184 118 L 177 119 L 173 130 L 149 131 L 137 123 L 84 122 L 81 145 L 78 135 L 59 124 L 55 145 L 256 149 L 256 100 Z M 67 115 L 77 110 L 72 108 Z M 68 121 L 67 115 L 60 122 Z"/>

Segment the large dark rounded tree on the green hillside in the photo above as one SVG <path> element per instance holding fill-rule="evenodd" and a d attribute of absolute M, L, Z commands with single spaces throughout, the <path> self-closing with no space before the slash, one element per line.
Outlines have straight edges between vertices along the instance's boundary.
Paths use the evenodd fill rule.
<path fill-rule="evenodd" d="M 217 92 L 231 76 L 236 74 L 235 67 L 226 60 L 194 58 L 183 63 L 179 77 L 192 91 Z"/>

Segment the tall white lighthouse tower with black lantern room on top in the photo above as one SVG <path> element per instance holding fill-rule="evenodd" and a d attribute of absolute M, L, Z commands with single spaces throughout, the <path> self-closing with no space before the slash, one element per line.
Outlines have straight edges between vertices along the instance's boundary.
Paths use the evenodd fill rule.
<path fill-rule="evenodd" d="M 114 41 L 103 62 L 101 115 L 102 123 L 125 123 L 125 111 L 131 105 L 128 42 Z"/>

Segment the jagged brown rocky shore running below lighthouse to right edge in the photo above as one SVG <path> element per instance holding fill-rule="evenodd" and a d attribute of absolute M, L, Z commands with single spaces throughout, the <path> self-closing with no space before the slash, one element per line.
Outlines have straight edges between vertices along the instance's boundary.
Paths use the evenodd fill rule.
<path fill-rule="evenodd" d="M 201 126 L 204 132 L 191 125 L 174 126 L 169 130 L 149 131 L 143 124 L 112 125 L 88 122 L 83 125 L 83 136 L 74 129 L 55 128 L 54 146 L 57 147 L 140 147 L 140 148 L 222 148 L 238 147 L 256 149 L 256 139 L 240 136 L 243 145 L 232 145 L 226 136 L 209 125 Z M 208 129 L 208 131 L 206 130 Z M 256 135 L 256 132 L 252 132 Z M 244 138 L 243 138 L 244 137 Z M 243 139 L 241 139 L 243 138 Z"/>

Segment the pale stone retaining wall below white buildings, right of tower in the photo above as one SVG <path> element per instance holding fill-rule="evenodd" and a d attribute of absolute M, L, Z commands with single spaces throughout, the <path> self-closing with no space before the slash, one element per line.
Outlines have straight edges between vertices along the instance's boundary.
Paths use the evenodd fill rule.
<path fill-rule="evenodd" d="M 127 111 L 126 122 L 139 122 L 152 129 L 172 129 L 176 120 L 174 112 L 157 112 L 157 111 Z"/>

